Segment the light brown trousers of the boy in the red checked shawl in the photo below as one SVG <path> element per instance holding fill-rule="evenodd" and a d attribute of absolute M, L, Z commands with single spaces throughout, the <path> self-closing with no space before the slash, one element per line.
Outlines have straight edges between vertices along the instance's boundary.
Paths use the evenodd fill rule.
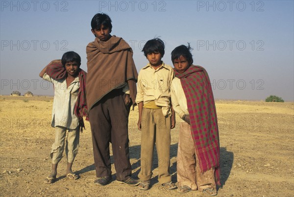
<path fill-rule="evenodd" d="M 217 191 L 214 168 L 202 173 L 197 165 L 198 159 L 191 128 L 186 122 L 180 124 L 176 162 L 178 186 L 188 186 L 192 190 L 198 189 L 199 191 L 203 191 L 205 188 L 214 188 Z"/>

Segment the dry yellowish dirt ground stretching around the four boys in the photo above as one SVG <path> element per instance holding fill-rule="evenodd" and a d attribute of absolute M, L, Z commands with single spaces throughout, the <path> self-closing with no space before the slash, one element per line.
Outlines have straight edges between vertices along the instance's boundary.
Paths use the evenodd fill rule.
<path fill-rule="evenodd" d="M 53 98 L 0 97 L 0 196 L 194 197 L 199 191 L 179 194 L 157 181 L 157 157 L 151 189 L 141 191 L 116 182 L 94 185 L 92 138 L 89 122 L 80 136 L 73 163 L 77 180 L 65 177 L 66 158 L 57 181 L 44 184 L 50 172 L 49 152 L 54 141 L 50 126 Z M 217 100 L 221 143 L 220 197 L 294 196 L 294 103 Z M 130 158 L 134 177 L 140 170 L 138 110 L 129 117 Z M 180 120 L 177 118 L 177 122 Z M 172 129 L 171 173 L 176 181 L 178 124 Z M 155 154 L 156 155 L 156 154 Z"/>

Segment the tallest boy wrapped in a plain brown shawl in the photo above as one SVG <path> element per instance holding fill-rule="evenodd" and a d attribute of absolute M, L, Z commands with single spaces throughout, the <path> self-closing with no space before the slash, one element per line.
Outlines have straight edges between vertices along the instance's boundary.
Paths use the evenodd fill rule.
<path fill-rule="evenodd" d="M 111 35 L 108 15 L 96 14 L 91 21 L 94 42 L 87 52 L 87 104 L 92 131 L 96 176 L 94 183 L 105 186 L 111 181 L 109 143 L 112 144 L 116 177 L 119 183 L 139 184 L 131 177 L 128 115 L 137 93 L 137 70 L 130 46 Z"/>

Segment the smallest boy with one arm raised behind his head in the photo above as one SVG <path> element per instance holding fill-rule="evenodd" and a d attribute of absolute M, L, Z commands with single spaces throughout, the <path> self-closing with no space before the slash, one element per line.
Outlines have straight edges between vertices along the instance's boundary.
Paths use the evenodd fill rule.
<path fill-rule="evenodd" d="M 80 129 L 82 132 L 84 127 L 83 116 L 87 117 L 86 72 L 79 68 L 80 65 L 80 56 L 69 51 L 63 54 L 61 61 L 53 60 L 39 74 L 54 85 L 51 126 L 55 127 L 55 142 L 50 153 L 52 171 L 44 180 L 47 184 L 53 183 L 56 179 L 57 165 L 64 150 L 66 130 L 69 130 L 65 149 L 68 160 L 66 176 L 70 179 L 78 178 L 78 175 L 73 173 L 72 166 L 79 148 L 79 132 Z"/>

